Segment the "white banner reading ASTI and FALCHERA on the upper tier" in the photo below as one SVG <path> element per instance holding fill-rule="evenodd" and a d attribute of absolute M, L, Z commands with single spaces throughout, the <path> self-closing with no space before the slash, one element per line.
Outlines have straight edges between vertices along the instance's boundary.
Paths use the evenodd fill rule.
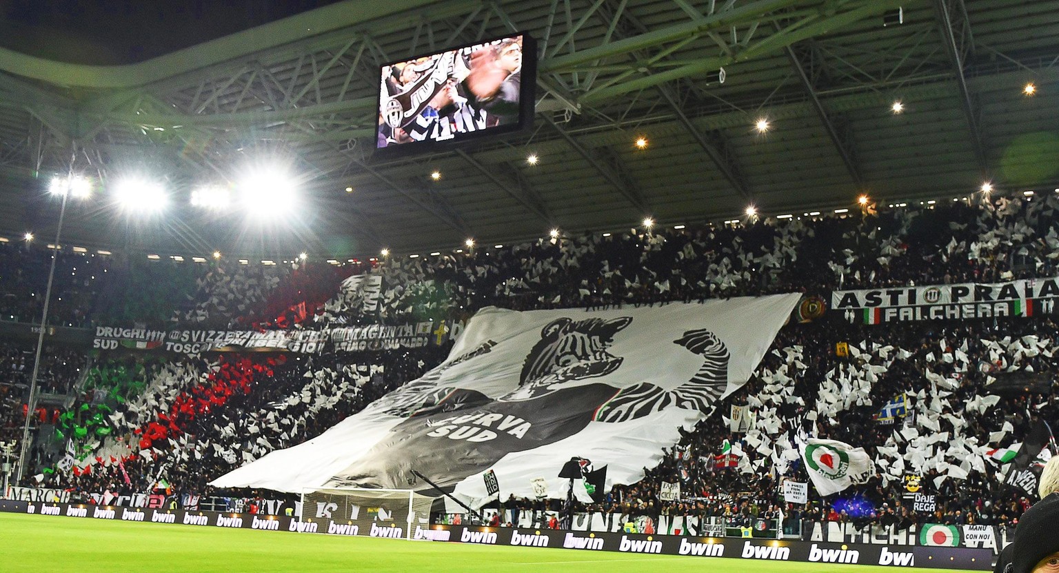
<path fill-rule="evenodd" d="M 1008 283 L 836 290 L 831 308 L 849 322 L 1031 317 L 1055 312 L 1059 277 Z"/>

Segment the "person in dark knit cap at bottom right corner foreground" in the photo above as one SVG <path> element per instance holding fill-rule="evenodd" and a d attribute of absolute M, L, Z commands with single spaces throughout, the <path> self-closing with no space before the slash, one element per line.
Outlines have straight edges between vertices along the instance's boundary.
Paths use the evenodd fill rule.
<path fill-rule="evenodd" d="M 1027 519 L 1037 520 L 1036 516 L 1043 514 L 1047 507 L 1056 506 L 1059 503 L 1059 456 L 1055 456 L 1048 460 L 1048 463 L 1044 465 L 1044 469 L 1041 470 L 1040 484 L 1037 487 L 1037 493 L 1041 496 L 1041 501 L 1037 502 L 1036 505 L 1026 511 L 1022 515 L 1022 519 L 1019 520 L 1019 526 L 1015 530 L 1015 542 L 1010 543 L 1003 551 L 1000 552 L 1000 556 L 997 558 L 997 567 L 993 568 L 993 573 L 1029 573 L 1030 571 L 1038 571 L 1038 567 L 1033 567 L 1035 563 L 1038 566 L 1044 566 L 1040 569 L 1041 572 L 1059 572 L 1059 531 L 1055 527 L 1055 519 L 1059 518 L 1059 508 L 1051 509 L 1052 515 L 1045 516 L 1046 519 L 1037 525 L 1026 525 L 1026 531 L 1023 531 L 1023 523 Z M 1044 502 L 1048 502 L 1048 506 L 1043 506 Z M 1030 512 L 1036 509 L 1039 505 L 1042 506 L 1040 514 L 1030 515 Z M 1037 527 L 1043 525 L 1043 531 L 1036 531 Z M 1026 539 L 1023 539 L 1022 537 Z M 1043 537 L 1042 537 L 1043 535 Z M 1026 563 L 1022 562 L 1031 557 L 1018 557 L 1019 555 L 1029 555 L 1038 554 L 1039 551 L 1033 551 L 1031 548 L 1040 548 L 1041 551 L 1046 548 L 1053 548 L 1052 553 L 1041 553 L 1041 557 L 1037 561 L 1029 563 L 1033 569 L 1019 570 L 1016 569 L 1016 562 L 1020 562 L 1022 567 Z M 1047 557 L 1045 559 L 1045 557 Z M 1047 567 L 1045 561 L 1054 560 L 1051 567 Z M 1040 562 L 1038 562 L 1040 561 Z"/>

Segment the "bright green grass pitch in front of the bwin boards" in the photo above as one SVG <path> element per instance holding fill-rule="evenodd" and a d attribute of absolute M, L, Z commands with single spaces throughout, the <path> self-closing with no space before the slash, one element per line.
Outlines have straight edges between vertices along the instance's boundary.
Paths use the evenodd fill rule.
<path fill-rule="evenodd" d="M 735 549 L 734 543 L 732 549 Z M 893 568 L 883 567 L 482 547 L 0 513 L 0 571 L 3 573 L 643 573 L 665 570 L 893 573 Z"/>

